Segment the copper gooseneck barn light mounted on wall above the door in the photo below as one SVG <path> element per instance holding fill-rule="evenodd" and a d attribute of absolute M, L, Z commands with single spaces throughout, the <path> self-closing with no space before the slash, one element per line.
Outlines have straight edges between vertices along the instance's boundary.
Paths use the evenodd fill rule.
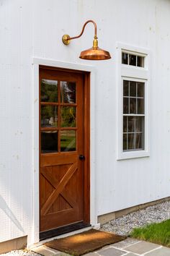
<path fill-rule="evenodd" d="M 86 25 L 92 22 L 94 24 L 94 40 L 93 40 L 93 46 L 89 48 L 86 51 L 81 51 L 81 54 L 79 56 L 80 59 L 90 59 L 90 60 L 104 60 L 104 59 L 111 59 L 111 56 L 109 55 L 109 51 L 102 50 L 101 48 L 98 47 L 98 40 L 97 40 L 97 24 L 93 20 L 87 20 L 86 23 L 84 23 L 84 26 L 82 28 L 82 31 L 80 35 L 74 36 L 71 38 L 69 35 L 63 35 L 63 43 L 68 46 L 71 40 L 80 38 L 81 35 L 84 33 L 84 28 Z"/>

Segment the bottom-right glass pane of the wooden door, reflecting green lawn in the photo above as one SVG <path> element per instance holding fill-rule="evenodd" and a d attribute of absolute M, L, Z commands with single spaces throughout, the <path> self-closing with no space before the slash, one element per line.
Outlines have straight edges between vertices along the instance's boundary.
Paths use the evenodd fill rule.
<path fill-rule="evenodd" d="M 76 131 L 61 131 L 61 152 L 76 151 Z"/>

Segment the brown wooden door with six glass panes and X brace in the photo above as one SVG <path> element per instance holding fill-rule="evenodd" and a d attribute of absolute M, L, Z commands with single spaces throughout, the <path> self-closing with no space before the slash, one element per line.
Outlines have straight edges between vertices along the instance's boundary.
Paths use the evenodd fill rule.
<path fill-rule="evenodd" d="M 84 75 L 40 68 L 40 234 L 89 223 L 85 123 Z"/>

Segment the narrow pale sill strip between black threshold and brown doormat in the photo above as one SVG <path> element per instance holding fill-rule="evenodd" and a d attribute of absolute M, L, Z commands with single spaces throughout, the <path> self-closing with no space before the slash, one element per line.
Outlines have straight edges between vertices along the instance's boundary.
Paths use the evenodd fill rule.
<path fill-rule="evenodd" d="M 53 237 L 51 237 L 51 238 L 49 238 L 49 239 L 44 239 L 44 240 L 41 240 L 41 241 L 38 242 L 38 243 L 35 243 L 35 244 L 30 245 L 28 249 L 32 249 L 32 248 L 35 248 L 35 247 L 39 247 L 39 246 L 41 246 L 42 244 L 45 244 L 45 243 L 47 243 L 47 242 L 50 242 L 50 241 L 52 241 L 52 240 L 54 240 L 54 239 L 60 239 L 60 238 L 64 238 L 64 237 L 67 237 L 67 236 L 73 236 L 74 234 L 79 234 L 79 233 L 82 233 L 82 232 L 84 232 L 84 231 L 88 231 L 88 230 L 90 230 L 90 229 L 93 229 L 93 227 L 92 227 L 91 225 L 88 226 L 88 227 L 86 227 L 86 228 L 83 228 L 83 229 L 78 229 L 78 230 L 76 230 L 76 231 L 68 232 L 68 233 L 66 233 L 66 234 L 61 234 L 61 235 L 58 235 L 58 236 L 53 236 Z"/>

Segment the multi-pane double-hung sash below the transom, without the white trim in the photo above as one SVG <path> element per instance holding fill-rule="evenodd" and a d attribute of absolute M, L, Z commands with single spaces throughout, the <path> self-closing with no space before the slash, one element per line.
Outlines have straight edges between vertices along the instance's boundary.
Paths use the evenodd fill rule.
<path fill-rule="evenodd" d="M 145 82 L 122 80 L 122 150 L 145 149 Z"/>

